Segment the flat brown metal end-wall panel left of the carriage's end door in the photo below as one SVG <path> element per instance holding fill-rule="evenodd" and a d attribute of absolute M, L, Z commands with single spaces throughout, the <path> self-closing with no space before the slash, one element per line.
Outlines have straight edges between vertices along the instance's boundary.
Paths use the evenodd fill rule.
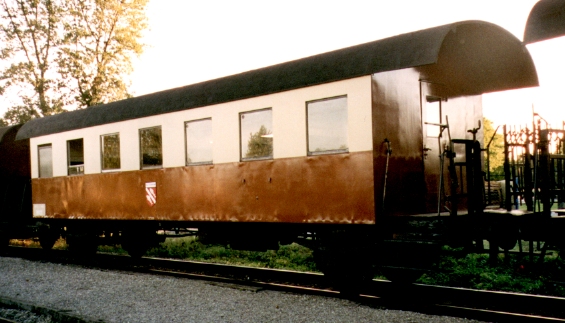
<path fill-rule="evenodd" d="M 386 167 L 385 138 L 392 144 L 384 214 L 424 213 L 422 121 L 419 74 L 414 69 L 373 75 L 373 149 L 375 201 L 383 213 L 382 195 Z"/>

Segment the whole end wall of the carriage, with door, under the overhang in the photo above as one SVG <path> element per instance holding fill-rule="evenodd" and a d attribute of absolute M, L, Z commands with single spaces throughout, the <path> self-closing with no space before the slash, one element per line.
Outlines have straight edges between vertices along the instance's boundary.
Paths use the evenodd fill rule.
<path fill-rule="evenodd" d="M 441 98 L 441 121 L 447 123 L 449 119 L 451 138 L 472 139 L 472 134 L 467 130 L 476 128 L 478 121 L 482 120 L 480 96 L 468 95 L 467 91 L 454 92 L 454 89 L 448 89 L 442 83 L 423 81 L 421 77 L 425 72 L 427 70 L 422 72 L 422 69 L 414 68 L 378 73 L 372 77 L 377 219 L 381 212 L 384 215 L 437 212 L 440 194 L 439 156 L 449 140 L 447 130 L 440 144 L 437 137 L 426 135 L 426 120 L 422 118 L 425 115 L 426 97 Z M 386 207 L 383 210 L 385 139 L 392 143 L 393 153 L 389 161 Z M 477 140 L 482 140 L 481 131 L 477 134 Z M 425 147 L 431 150 L 424 151 Z M 465 160 L 464 150 L 457 151 L 457 154 L 458 160 Z M 445 192 L 449 192 L 447 161 L 443 175 Z M 444 196 L 442 200 L 445 200 Z"/>

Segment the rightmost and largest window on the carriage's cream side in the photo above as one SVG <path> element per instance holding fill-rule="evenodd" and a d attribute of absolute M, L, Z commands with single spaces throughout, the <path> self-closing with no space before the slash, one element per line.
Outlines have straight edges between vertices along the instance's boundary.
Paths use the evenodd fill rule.
<path fill-rule="evenodd" d="M 347 152 L 347 97 L 306 103 L 308 155 Z"/>

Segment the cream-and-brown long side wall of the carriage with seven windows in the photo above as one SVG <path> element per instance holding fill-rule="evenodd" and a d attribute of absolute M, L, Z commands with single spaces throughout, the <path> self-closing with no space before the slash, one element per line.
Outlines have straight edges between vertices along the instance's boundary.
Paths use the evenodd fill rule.
<path fill-rule="evenodd" d="M 55 218 L 374 223 L 370 100 L 360 77 L 31 138 L 34 207 Z M 107 136 L 119 165 L 104 170 Z M 45 147 L 51 178 L 38 172 Z"/>

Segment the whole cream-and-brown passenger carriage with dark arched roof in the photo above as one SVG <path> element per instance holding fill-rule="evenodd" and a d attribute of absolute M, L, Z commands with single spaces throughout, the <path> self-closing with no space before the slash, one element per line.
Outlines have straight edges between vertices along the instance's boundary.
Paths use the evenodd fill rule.
<path fill-rule="evenodd" d="M 176 228 L 248 249 L 377 239 L 386 218 L 437 211 L 447 132 L 482 138 L 482 93 L 537 82 L 518 39 L 464 21 L 34 119 L 17 134 L 29 218 L 45 245 L 138 254 Z"/>

